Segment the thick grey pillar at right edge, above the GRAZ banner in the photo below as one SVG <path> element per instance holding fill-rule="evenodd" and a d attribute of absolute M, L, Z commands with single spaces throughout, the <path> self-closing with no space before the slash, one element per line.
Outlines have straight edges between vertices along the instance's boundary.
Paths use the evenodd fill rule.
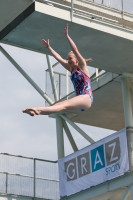
<path fill-rule="evenodd" d="M 121 83 L 122 83 L 125 126 L 133 127 L 132 101 L 131 101 L 129 78 L 123 77 Z"/>

